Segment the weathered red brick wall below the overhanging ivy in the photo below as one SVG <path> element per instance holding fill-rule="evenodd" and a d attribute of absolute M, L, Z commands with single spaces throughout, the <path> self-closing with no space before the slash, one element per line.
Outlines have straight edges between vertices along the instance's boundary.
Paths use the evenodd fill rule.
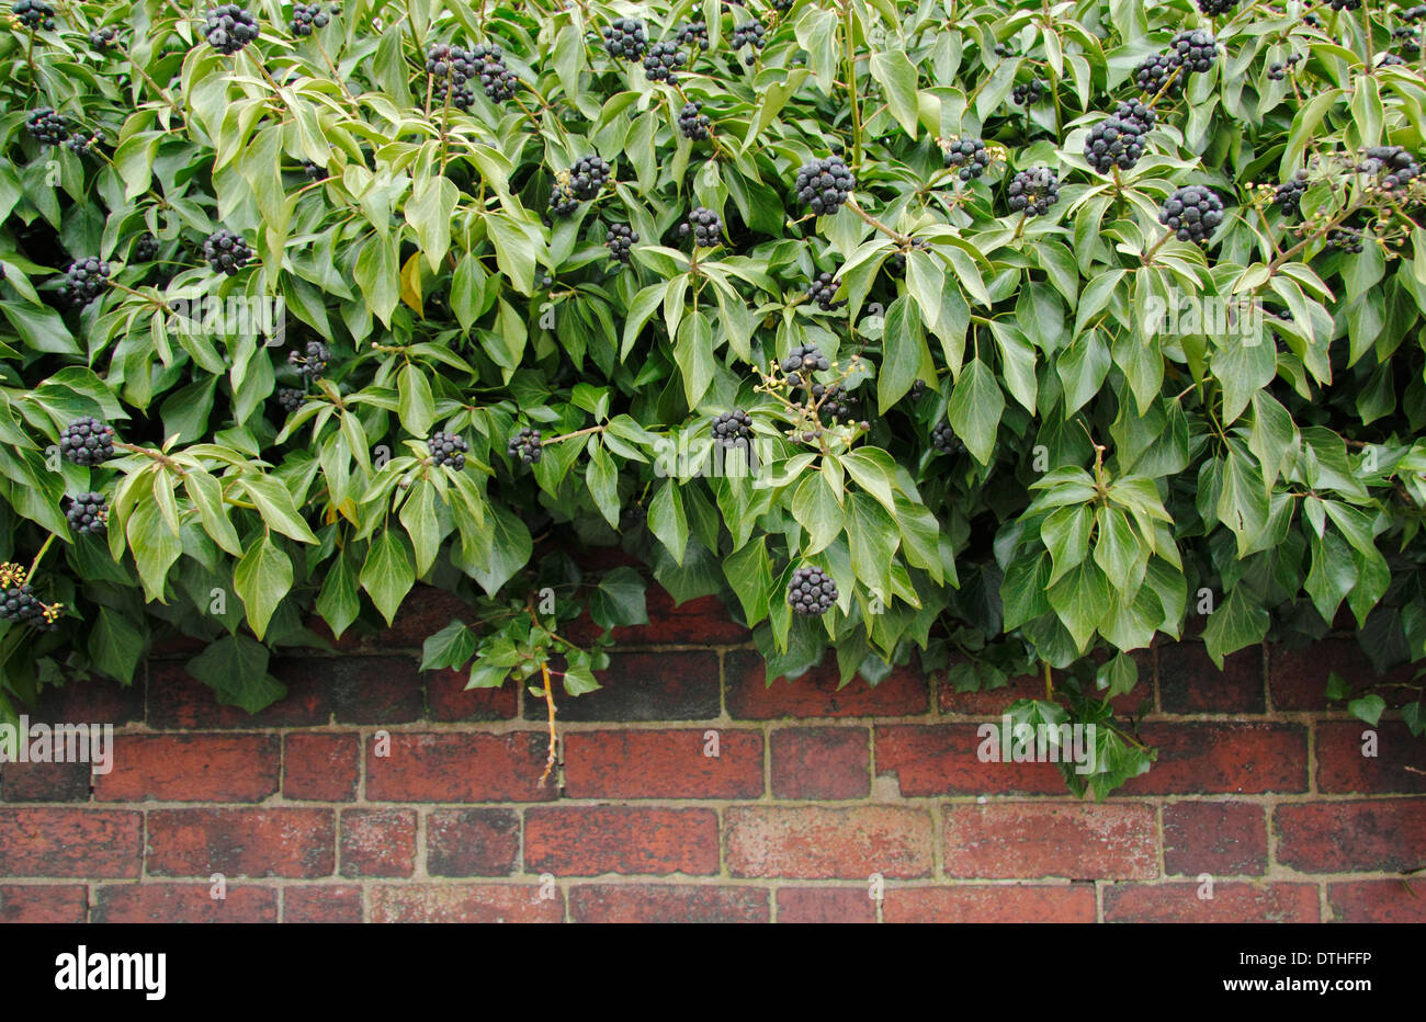
<path fill-rule="evenodd" d="M 291 694 L 257 717 L 177 651 L 131 688 L 50 690 L 31 720 L 114 723 L 114 768 L 0 767 L 0 921 L 1426 921 L 1426 878 L 1400 875 L 1426 865 L 1426 743 L 1383 720 L 1366 758 L 1323 710 L 1328 670 L 1369 676 L 1345 639 L 1224 673 L 1147 654 L 1159 763 L 1094 804 L 1052 765 L 977 760 L 977 721 L 1030 678 L 769 688 L 713 600 L 653 596 L 606 687 L 559 700 L 540 788 L 542 701 L 416 670 L 459 610 L 431 593 L 279 661 Z"/>

